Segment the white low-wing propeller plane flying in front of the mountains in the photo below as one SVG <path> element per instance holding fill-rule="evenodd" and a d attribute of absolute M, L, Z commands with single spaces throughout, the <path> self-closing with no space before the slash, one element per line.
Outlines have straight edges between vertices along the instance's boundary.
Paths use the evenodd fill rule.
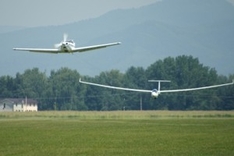
<path fill-rule="evenodd" d="M 73 40 L 67 40 L 67 34 L 64 34 L 63 41 L 55 44 L 54 49 L 42 49 L 42 48 L 13 48 L 13 50 L 19 51 L 30 51 L 30 52 L 40 52 L 40 53 L 74 53 L 74 52 L 85 52 L 89 50 L 101 49 L 106 48 L 109 46 L 119 45 L 121 42 L 114 42 L 114 43 L 107 43 L 107 44 L 99 44 L 99 45 L 92 45 L 86 47 L 75 47 L 75 42 Z"/>

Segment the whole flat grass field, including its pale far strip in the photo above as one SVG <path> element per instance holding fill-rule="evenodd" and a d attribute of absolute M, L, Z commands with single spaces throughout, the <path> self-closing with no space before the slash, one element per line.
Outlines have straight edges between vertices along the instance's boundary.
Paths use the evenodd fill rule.
<path fill-rule="evenodd" d="M 233 111 L 0 113 L 0 155 L 234 155 Z"/>

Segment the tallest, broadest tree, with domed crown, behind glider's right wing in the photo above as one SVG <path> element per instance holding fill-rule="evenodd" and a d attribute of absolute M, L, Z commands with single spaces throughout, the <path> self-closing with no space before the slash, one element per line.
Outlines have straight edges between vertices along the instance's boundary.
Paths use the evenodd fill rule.
<path fill-rule="evenodd" d="M 218 77 L 215 69 L 203 66 L 197 58 L 184 55 L 175 59 L 168 57 L 164 60 L 159 60 L 147 68 L 146 73 L 148 77 L 155 79 L 172 80 L 170 84 L 162 84 L 162 90 L 213 85 L 217 83 Z M 205 94 L 209 94 L 209 97 L 202 97 Z M 215 109 L 219 102 L 215 90 L 180 92 L 173 93 L 173 95 L 168 93 L 161 96 L 164 97 L 160 97 L 157 100 L 156 109 Z M 150 108 L 155 108 L 152 102 L 151 106 Z"/>

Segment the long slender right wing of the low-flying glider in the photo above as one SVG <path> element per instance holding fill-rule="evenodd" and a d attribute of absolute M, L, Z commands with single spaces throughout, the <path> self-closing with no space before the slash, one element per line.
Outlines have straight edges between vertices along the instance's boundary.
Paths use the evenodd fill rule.
<path fill-rule="evenodd" d="M 233 85 L 233 84 L 234 84 L 234 80 L 232 80 L 231 83 L 224 83 L 224 84 L 219 84 L 219 85 L 212 85 L 212 86 L 205 86 L 205 87 L 198 87 L 198 88 L 175 89 L 175 90 L 160 90 L 160 93 L 186 92 L 186 91 L 194 91 L 194 90 L 217 88 L 217 87 L 228 86 L 228 85 Z"/>

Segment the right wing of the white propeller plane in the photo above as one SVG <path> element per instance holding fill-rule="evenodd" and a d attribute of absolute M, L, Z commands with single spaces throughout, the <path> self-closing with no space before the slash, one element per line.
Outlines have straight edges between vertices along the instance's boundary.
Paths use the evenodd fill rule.
<path fill-rule="evenodd" d="M 86 52 L 89 50 L 101 49 L 101 48 L 106 48 L 109 46 L 114 46 L 114 45 L 119 45 L 119 44 L 121 44 L 121 42 L 99 44 L 99 45 L 93 45 L 93 46 L 87 46 L 87 47 L 78 47 L 78 48 L 72 49 L 72 52 Z"/>

